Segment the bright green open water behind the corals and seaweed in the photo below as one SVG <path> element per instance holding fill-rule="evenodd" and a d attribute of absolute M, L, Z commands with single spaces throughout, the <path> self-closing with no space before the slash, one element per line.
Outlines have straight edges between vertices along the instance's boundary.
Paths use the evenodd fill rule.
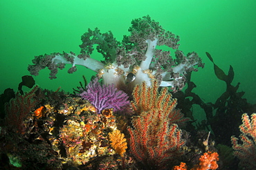
<path fill-rule="evenodd" d="M 255 103 L 256 83 L 256 2 L 255 0 L 168 0 L 168 1 L 87 1 L 87 0 L 1 0 L 0 93 L 14 88 L 35 55 L 73 51 L 79 53 L 80 36 L 88 28 L 111 30 L 122 39 L 127 35 L 131 19 L 150 15 L 165 30 L 180 35 L 180 50 L 199 53 L 205 68 L 192 74 L 192 81 L 205 102 L 215 102 L 226 84 L 214 75 L 213 66 L 206 57 L 210 53 L 214 62 L 226 73 L 230 65 L 235 70 L 233 85 L 241 82 L 248 102 Z M 101 59 L 98 55 L 93 56 Z M 69 68 L 67 66 L 67 68 Z M 42 88 L 73 91 L 82 75 L 95 75 L 79 67 L 69 75 L 60 70 L 57 79 L 48 79 L 49 70 L 41 70 L 35 81 Z"/>

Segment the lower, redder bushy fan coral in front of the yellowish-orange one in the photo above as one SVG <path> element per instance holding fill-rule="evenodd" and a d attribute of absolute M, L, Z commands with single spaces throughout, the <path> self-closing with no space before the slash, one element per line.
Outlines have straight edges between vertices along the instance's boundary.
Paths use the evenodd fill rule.
<path fill-rule="evenodd" d="M 183 154 L 181 147 L 185 141 L 181 139 L 181 129 L 170 124 L 159 109 L 133 117 L 132 124 L 133 128 L 128 128 L 130 153 L 146 167 L 165 169 L 167 162 Z"/>

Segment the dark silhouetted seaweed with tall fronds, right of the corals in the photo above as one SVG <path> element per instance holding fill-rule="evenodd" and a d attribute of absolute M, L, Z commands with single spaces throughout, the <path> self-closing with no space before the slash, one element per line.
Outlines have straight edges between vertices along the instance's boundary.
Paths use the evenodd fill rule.
<path fill-rule="evenodd" d="M 206 55 L 214 64 L 210 53 L 206 52 Z M 192 105 L 198 104 L 205 112 L 206 121 L 199 122 L 197 127 L 194 127 L 194 133 L 199 129 L 210 131 L 211 128 L 212 135 L 214 135 L 214 139 L 218 144 L 231 146 L 230 137 L 232 135 L 239 136 L 240 134 L 239 125 L 241 124 L 241 115 L 243 113 L 251 115 L 256 111 L 256 104 L 250 104 L 243 98 L 244 91 L 237 91 L 240 83 L 237 83 L 236 86 L 232 85 L 232 80 L 235 76 L 232 66 L 230 66 L 228 75 L 226 75 L 217 64 L 214 64 L 214 73 L 218 79 L 226 82 L 226 91 L 215 103 L 204 102 L 199 95 L 192 92 L 196 88 L 196 84 L 190 81 L 191 73 L 187 76 L 188 88 L 185 89 L 185 92 L 179 91 L 173 95 L 178 99 L 178 105 L 176 107 L 181 108 L 181 112 L 185 114 L 185 117 L 192 119 L 190 122 L 191 126 L 187 126 L 187 129 L 192 129 L 192 122 L 196 122 L 192 115 Z"/>

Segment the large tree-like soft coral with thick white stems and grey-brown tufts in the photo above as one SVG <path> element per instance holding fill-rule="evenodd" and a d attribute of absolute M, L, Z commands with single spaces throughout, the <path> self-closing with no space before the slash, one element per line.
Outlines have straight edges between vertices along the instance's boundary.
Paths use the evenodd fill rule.
<path fill-rule="evenodd" d="M 104 84 L 114 84 L 119 89 L 130 92 L 136 84 L 158 79 L 161 86 L 172 86 L 174 91 L 183 88 L 186 73 L 197 70 L 196 66 L 203 67 L 199 56 L 192 52 L 184 55 L 179 48 L 179 36 L 165 31 L 158 22 L 148 15 L 131 21 L 131 34 L 117 41 L 111 31 L 101 33 L 98 28 L 89 29 L 82 35 L 81 53 L 52 53 L 39 55 L 33 59 L 34 65 L 28 70 L 32 75 L 38 75 L 39 70 L 48 67 L 51 70 L 51 79 L 56 78 L 57 69 L 72 64 L 68 73 L 77 70 L 77 65 L 85 66 L 102 77 Z M 90 57 L 93 46 L 105 58 L 99 62 Z M 170 50 L 158 50 L 157 46 L 168 46 L 175 51 L 175 59 Z M 133 79 L 127 79 L 132 75 Z"/>

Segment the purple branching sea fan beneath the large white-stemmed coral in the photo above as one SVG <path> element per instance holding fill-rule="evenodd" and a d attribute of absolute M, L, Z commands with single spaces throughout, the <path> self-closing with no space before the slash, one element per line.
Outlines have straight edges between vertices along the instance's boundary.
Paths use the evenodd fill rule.
<path fill-rule="evenodd" d="M 86 86 L 86 91 L 79 95 L 93 104 L 98 113 L 106 108 L 113 108 L 114 112 L 127 113 L 130 110 L 130 102 L 125 92 L 118 90 L 113 84 L 101 86 L 97 78 L 93 79 Z"/>

